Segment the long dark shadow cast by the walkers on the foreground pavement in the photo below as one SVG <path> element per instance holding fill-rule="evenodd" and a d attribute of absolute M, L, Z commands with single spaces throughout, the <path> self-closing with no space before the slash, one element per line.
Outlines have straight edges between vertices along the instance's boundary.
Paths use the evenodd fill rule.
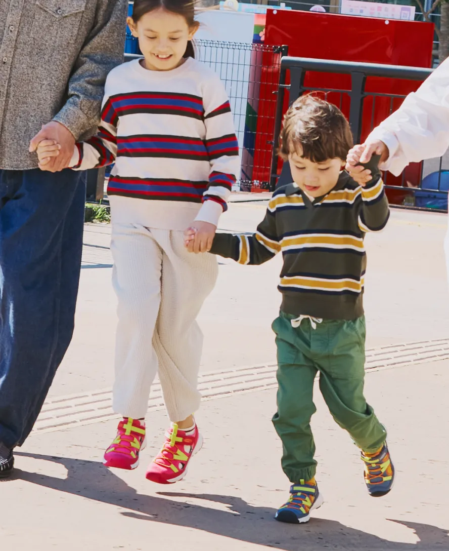
<path fill-rule="evenodd" d="M 391 542 L 344 526 L 340 522 L 314 518 L 303 526 L 285 525 L 273 520 L 275 511 L 268 507 L 254 507 L 240 498 L 227 495 L 159 492 L 157 496 L 138 494 L 102 463 L 73 458 L 15 452 L 18 456 L 52 461 L 67 469 L 67 478 L 53 478 L 17 469 L 12 479 L 20 478 L 32 484 L 83 496 L 86 499 L 116 505 L 128 511 L 120 514 L 149 522 L 160 522 L 196 528 L 237 541 L 266 545 L 284 551 L 340 549 L 366 551 L 430 551 L 449 549 L 448 531 L 421 523 L 392 520 L 413 530 L 416 544 Z M 5 481 L 6 482 L 6 481 Z M 183 498 L 184 503 L 171 498 Z M 205 502 L 192 503 L 192 500 Z M 185 502 L 190 503 L 185 503 Z M 219 503 L 226 510 L 207 506 Z"/>

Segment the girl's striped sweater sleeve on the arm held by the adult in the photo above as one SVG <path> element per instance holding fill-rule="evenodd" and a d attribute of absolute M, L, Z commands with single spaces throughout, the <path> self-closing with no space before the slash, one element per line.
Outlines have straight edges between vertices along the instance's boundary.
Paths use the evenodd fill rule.
<path fill-rule="evenodd" d="M 96 136 L 79 142 L 70 162 L 73 170 L 100 168 L 114 163 L 117 156 L 117 116 L 111 100 L 105 95 L 101 121 Z"/>

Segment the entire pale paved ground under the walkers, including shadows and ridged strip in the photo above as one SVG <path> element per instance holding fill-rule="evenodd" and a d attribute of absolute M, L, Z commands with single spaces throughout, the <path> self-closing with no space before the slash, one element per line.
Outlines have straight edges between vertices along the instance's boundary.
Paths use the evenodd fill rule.
<path fill-rule="evenodd" d="M 222 228 L 251 231 L 263 215 L 261 204 L 232 205 Z M 141 467 L 112 472 L 100 462 L 116 425 L 110 418 L 97 422 L 102 401 L 105 413 L 110 407 L 116 304 L 109 283 L 109 229 L 86 226 L 75 337 L 41 416 L 43 430 L 18 451 L 16 477 L 0 485 L 0 549 L 449 549 L 445 226 L 442 215 L 395 210 L 388 229 L 366 242 L 372 349 L 366 394 L 390 432 L 395 489 L 386 498 L 369 498 L 357 450 L 316 392 L 317 478 L 326 503 L 300 527 L 272 520 L 288 488 L 270 423 L 275 409 L 270 321 L 279 304 L 280 259 L 254 268 L 222 262 L 201 314 L 206 337 L 201 381 L 209 399 L 198 422 L 206 444 L 185 481 L 157 487 L 144 478 L 167 423 L 156 398 Z M 91 407 L 83 400 L 95 402 L 96 418 L 80 413 Z M 65 406 L 67 422 L 85 420 L 52 427 L 45 419 Z"/>

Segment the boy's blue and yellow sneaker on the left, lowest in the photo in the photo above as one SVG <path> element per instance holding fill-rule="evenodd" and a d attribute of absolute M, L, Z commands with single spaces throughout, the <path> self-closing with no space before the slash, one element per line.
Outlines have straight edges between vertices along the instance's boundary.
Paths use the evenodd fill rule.
<path fill-rule="evenodd" d="M 300 480 L 299 484 L 293 484 L 290 487 L 290 494 L 287 503 L 276 512 L 275 518 L 280 522 L 291 524 L 309 522 L 310 511 L 318 509 L 324 502 L 314 478 L 308 482 Z"/>

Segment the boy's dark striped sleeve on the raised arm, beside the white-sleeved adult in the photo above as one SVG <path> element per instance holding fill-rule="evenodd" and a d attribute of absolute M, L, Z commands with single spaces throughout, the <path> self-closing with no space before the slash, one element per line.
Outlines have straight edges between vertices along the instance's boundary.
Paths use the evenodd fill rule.
<path fill-rule="evenodd" d="M 358 223 L 363 232 L 381 231 L 390 218 L 390 208 L 385 193 L 384 182 L 379 178 L 375 183 L 362 187 L 362 204 Z"/>

